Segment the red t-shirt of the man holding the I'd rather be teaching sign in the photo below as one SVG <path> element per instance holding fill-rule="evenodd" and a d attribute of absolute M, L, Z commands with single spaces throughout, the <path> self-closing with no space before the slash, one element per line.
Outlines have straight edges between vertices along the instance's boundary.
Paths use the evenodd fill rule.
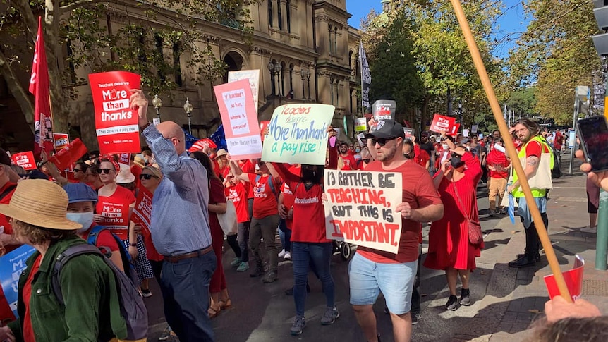
<path fill-rule="evenodd" d="M 403 202 L 409 203 L 412 209 L 442 204 L 428 171 L 414 162 L 406 161 L 395 169 L 385 170 L 382 168 L 382 162 L 372 161 L 367 165 L 365 171 L 401 172 L 403 175 Z M 401 221 L 401 240 L 397 254 L 365 247 L 359 247 L 357 252 L 372 262 L 384 264 L 413 262 L 418 259 L 418 239 L 422 224 L 403 218 Z"/>

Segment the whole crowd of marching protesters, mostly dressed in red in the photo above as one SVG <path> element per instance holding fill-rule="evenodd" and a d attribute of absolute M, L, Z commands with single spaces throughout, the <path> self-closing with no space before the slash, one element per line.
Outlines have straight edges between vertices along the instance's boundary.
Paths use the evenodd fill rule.
<path fill-rule="evenodd" d="M 226 150 L 209 147 L 190 157 L 183 130 L 176 123 L 150 124 L 147 99 L 141 91 L 133 91 L 130 106 L 138 112 L 149 147 L 133 155 L 129 164 L 119 163 L 115 155 L 92 151 L 87 160 L 73 165 L 73 177 L 68 179 L 44 155 L 38 170 L 26 176 L 23 169 L 11 166 L 11 159 L 0 149 L 1 252 L 11 252 L 22 244 L 35 248 L 19 281 L 19 319 L 0 317 L 7 322 L 13 319 L 0 328 L 0 341 L 126 338 L 128 322 L 116 300 L 115 274 L 97 257 L 81 255 L 67 263 L 70 267 L 60 283 L 66 294 L 64 305 L 58 305 L 48 293 L 46 297 L 39 295 L 51 281 L 49 274 L 57 255 L 85 241 L 97 246 L 119 271 L 135 271 L 133 286 L 143 298 L 152 295 L 149 279 L 156 279 L 168 324 L 161 337 L 164 341 L 214 341 L 211 319 L 232 307 L 225 275 L 228 270 L 222 262 L 224 240 L 234 253 L 230 266 L 240 272 L 250 270 L 252 278 L 262 276 L 262 283 L 279 279 L 279 258 L 293 261 L 294 285 L 288 290 L 296 312 L 292 335 L 303 334 L 307 324 L 309 269 L 320 279 L 326 298 L 320 324 L 333 324 L 340 312 L 330 267 L 334 247 L 326 238 L 324 223 L 327 197 L 322 177 L 326 168 L 398 172 L 403 176 L 402 202 L 396 207 L 402 220 L 398 252 L 360 247 L 348 268 L 350 303 L 367 341 L 379 341 L 372 309 L 379 293 L 386 300 L 394 341 L 411 339 L 412 326 L 420 319 L 423 224 L 432 223 L 424 266 L 446 273 L 450 295 L 445 309 L 457 310 L 459 305 L 473 303 L 470 271 L 484 247 L 482 240 L 473 241 L 469 235 L 470 221 L 479 220 L 479 183 L 490 190 L 489 214 L 504 214 L 501 198 L 506 193 L 517 197 L 520 208 L 524 207 L 520 216 L 526 228 L 526 250 L 509 265 L 527 267 L 540 258 L 534 223 L 525 212 L 517 178 L 507 183 L 513 175 L 498 131 L 483 138 L 422 132 L 417 140 L 406 138 L 403 126 L 396 121 L 372 120 L 370 133 L 349 144 L 336 140 L 336 131 L 329 126 L 325 165 L 288 165 L 236 161 Z M 519 157 L 530 161 L 526 170 L 535 171 L 532 166 L 546 152 L 547 140 L 527 119 L 517 121 L 512 130 L 513 135 L 504 138 L 518 142 Z M 561 149 L 563 138 L 557 140 L 556 135 L 552 143 Z M 588 164 L 581 169 L 589 171 Z M 589 173 L 589 180 L 608 190 L 603 173 Z M 149 229 L 131 222 L 140 191 L 153 196 Z M 545 193 L 538 190 L 535 197 L 547 226 L 542 210 L 546 207 L 542 205 Z M 111 214 L 102 202 L 112 201 L 129 208 L 122 239 L 100 225 Z M 238 226 L 226 236 L 219 215 L 228 212 L 228 204 L 234 207 Z M 280 251 L 276 247 L 279 231 Z M 0 305 L 5 304 L 8 307 L 2 296 Z M 553 320 L 569 310 L 559 300 L 547 305 L 547 315 Z M 596 316 L 590 307 L 578 316 Z M 581 312 L 571 311 L 574 316 Z"/>

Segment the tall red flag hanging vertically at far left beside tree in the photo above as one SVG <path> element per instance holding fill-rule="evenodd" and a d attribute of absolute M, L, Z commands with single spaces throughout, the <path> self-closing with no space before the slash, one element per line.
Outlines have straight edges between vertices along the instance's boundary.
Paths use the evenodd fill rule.
<path fill-rule="evenodd" d="M 38 17 L 38 35 L 34 49 L 30 92 L 34 94 L 34 154 L 39 155 L 44 149 L 47 154 L 53 151 L 53 121 L 51 118 L 51 99 L 49 94 L 49 70 L 47 68 L 47 51 L 44 49 L 42 16 Z"/>

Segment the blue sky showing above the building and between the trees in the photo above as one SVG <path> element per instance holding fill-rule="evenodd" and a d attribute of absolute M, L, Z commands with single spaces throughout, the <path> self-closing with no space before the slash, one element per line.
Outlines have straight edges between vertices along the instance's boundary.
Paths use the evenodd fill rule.
<path fill-rule="evenodd" d="M 495 37 L 502 42 L 494 53 L 499 57 L 506 57 L 509 49 L 515 45 L 515 40 L 525 31 L 528 19 L 524 17 L 521 0 L 502 0 L 504 4 L 503 15 L 498 19 Z M 377 12 L 382 11 L 381 0 L 346 0 L 346 9 L 353 16 L 348 24 L 358 28 L 361 19 L 370 13 L 372 8 Z"/>

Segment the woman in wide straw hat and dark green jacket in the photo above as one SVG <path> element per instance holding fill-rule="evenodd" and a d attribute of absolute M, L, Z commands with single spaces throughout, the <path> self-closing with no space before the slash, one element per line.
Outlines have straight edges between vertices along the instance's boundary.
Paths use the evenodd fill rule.
<path fill-rule="evenodd" d="M 19 279 L 19 319 L 0 328 L 0 341 L 110 341 L 126 338 L 112 270 L 97 255 L 78 255 L 64 265 L 59 279 L 64 305 L 51 289 L 59 254 L 86 243 L 76 236 L 81 224 L 66 218 L 68 195 L 49 181 L 18 183 L 0 214 L 11 217 L 16 239 L 36 252 Z"/>

